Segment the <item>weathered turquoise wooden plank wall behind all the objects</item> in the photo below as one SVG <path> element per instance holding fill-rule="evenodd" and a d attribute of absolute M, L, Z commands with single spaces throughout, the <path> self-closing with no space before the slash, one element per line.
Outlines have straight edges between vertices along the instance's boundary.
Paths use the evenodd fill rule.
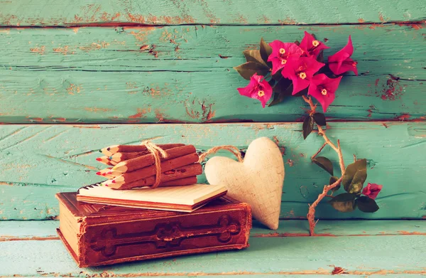
<path fill-rule="evenodd" d="M 352 36 L 360 75 L 346 76 L 339 87 L 327 112 L 329 134 L 341 139 L 346 164 L 352 154 L 367 158 L 368 181 L 385 186 L 377 213 L 337 213 L 324 204 L 317 216 L 423 218 L 422 1 L 245 2 L 4 1 L 0 218 L 55 218 L 54 193 L 99 181 L 94 151 L 116 141 L 158 137 L 200 150 L 244 149 L 260 136 L 283 150 L 281 217 L 304 217 L 327 180 L 308 159 L 320 138 L 302 140 L 306 105 L 289 98 L 262 109 L 238 95 L 235 88 L 246 81 L 232 70 L 261 36 L 294 41 L 303 31 L 327 38 L 329 53 Z"/>

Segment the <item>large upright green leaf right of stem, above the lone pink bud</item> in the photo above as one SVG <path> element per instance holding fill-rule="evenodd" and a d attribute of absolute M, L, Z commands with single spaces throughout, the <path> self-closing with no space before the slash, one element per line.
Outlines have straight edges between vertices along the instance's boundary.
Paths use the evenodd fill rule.
<path fill-rule="evenodd" d="M 360 159 L 346 167 L 342 185 L 348 193 L 359 193 L 367 178 L 367 160 Z"/>

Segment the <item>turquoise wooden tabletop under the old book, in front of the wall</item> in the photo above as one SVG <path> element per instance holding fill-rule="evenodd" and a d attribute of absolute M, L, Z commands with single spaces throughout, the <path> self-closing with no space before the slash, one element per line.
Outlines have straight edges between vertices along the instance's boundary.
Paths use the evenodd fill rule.
<path fill-rule="evenodd" d="M 79 269 L 55 234 L 58 221 L 0 222 L 2 277 L 349 277 L 425 275 L 426 222 L 282 220 L 273 232 L 255 223 L 246 250 Z"/>

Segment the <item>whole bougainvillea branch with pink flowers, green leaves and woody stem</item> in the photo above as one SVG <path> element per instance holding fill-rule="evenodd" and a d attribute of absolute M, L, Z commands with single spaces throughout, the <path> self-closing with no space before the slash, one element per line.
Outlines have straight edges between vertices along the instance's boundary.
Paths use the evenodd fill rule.
<path fill-rule="evenodd" d="M 340 212 L 351 212 L 359 208 L 364 213 L 374 213 L 378 210 L 374 199 L 382 188 L 375 183 L 368 183 L 364 187 L 367 178 L 366 159 L 356 159 L 354 155 L 354 163 L 345 167 L 340 142 L 337 140 L 337 144 L 334 144 L 327 137 L 323 128 L 327 125 L 325 116 L 317 112 L 317 105 L 312 101 L 314 97 L 325 113 L 334 102 L 344 73 L 352 71 L 358 75 L 357 62 L 351 58 L 354 53 L 351 36 L 344 48 L 329 55 L 325 60 L 324 50 L 328 48 L 307 32 L 300 43 L 283 43 L 278 40 L 266 43 L 262 38 L 260 49 L 245 50 L 243 53 L 247 62 L 235 67 L 241 77 L 250 80 L 249 85 L 237 89 L 240 95 L 259 100 L 262 107 L 266 107 L 272 97 L 273 100 L 268 106 L 277 105 L 290 96 L 302 96 L 310 105 L 302 124 L 303 138 L 306 139 L 310 135 L 316 124 L 318 135 L 324 139 L 324 144 L 311 156 L 311 160 L 331 175 L 322 193 L 309 206 L 307 220 L 310 224 L 310 235 L 315 235 L 315 209 L 324 197 L 332 198 L 328 203 Z M 332 161 L 327 157 L 318 156 L 327 145 L 339 158 L 340 178 L 334 176 Z M 333 196 L 341 187 L 346 193 Z"/>

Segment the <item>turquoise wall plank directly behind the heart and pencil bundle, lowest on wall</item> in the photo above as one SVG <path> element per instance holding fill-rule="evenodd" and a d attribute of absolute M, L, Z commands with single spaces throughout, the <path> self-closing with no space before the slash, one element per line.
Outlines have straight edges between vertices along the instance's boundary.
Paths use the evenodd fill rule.
<path fill-rule="evenodd" d="M 367 181 L 384 188 L 377 199 L 381 209 L 376 213 L 338 213 L 324 203 L 318 207 L 319 218 L 425 217 L 421 155 L 426 143 L 425 123 L 334 122 L 327 130 L 330 138 L 341 140 L 346 164 L 351 163 L 353 154 L 368 159 Z M 305 217 L 308 203 L 329 180 L 309 159 L 322 145 L 322 138 L 312 134 L 304 141 L 300 123 L 246 123 L 0 126 L 0 218 L 58 215 L 55 193 L 102 181 L 94 172 L 103 168 L 95 158 L 104 146 L 155 139 L 157 143 L 194 144 L 199 151 L 224 144 L 244 149 L 258 137 L 273 139 L 283 151 L 286 178 L 281 217 Z M 328 147 L 322 154 L 332 159 L 338 173 L 335 154 Z"/>

